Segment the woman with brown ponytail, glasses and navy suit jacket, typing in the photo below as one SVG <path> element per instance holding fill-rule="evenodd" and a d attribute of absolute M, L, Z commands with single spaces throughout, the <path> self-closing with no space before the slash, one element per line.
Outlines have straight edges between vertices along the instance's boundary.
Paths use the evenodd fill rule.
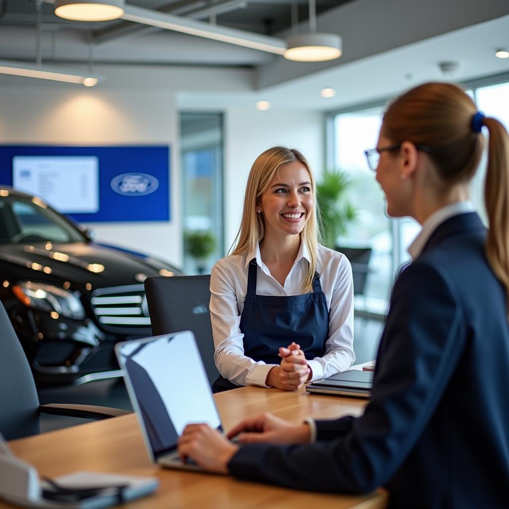
<path fill-rule="evenodd" d="M 483 127 L 488 228 L 468 199 Z M 426 83 L 389 105 L 366 156 L 388 214 L 422 230 L 394 283 L 364 414 L 302 425 L 252 418 L 229 434 L 240 434 L 241 448 L 191 426 L 180 453 L 297 489 L 383 485 L 390 507 L 509 507 L 507 132 L 459 87 Z"/>

